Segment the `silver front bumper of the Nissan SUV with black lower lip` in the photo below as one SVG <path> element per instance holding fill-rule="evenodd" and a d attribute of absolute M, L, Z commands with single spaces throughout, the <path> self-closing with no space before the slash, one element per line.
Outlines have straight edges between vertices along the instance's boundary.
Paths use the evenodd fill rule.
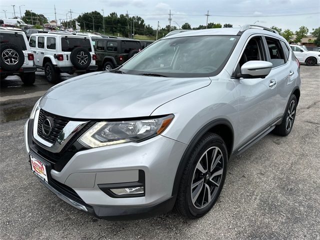
<path fill-rule="evenodd" d="M 27 121 L 24 131 L 27 152 L 51 164 L 50 159 L 37 154 L 28 143 L 32 138 L 28 127 L 32 126 Z M 50 169 L 52 181 L 40 181 L 62 200 L 99 218 L 149 217 L 172 209 L 176 197 L 172 196 L 172 187 L 185 148 L 183 143 L 158 135 L 139 143 L 81 150 L 60 171 Z M 115 198 L 99 188 L 101 184 L 137 181 L 139 170 L 145 174 L 144 196 Z"/>

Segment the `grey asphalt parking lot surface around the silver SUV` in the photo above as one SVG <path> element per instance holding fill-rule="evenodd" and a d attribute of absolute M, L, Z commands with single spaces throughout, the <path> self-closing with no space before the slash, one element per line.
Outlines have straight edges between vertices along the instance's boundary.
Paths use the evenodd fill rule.
<path fill-rule="evenodd" d="M 221 195 L 204 217 L 175 210 L 154 218 L 106 221 L 47 190 L 30 171 L 23 125 L 52 86 L 1 81 L 0 239 L 320 239 L 320 65 L 301 65 L 301 96 L 287 137 L 268 134 L 229 161 Z M 63 79 L 70 76 L 65 75 Z"/>

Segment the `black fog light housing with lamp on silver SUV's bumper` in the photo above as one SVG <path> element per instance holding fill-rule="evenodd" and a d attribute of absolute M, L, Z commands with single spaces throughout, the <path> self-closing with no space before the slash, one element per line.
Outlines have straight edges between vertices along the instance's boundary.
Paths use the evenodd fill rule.
<path fill-rule="evenodd" d="M 113 198 L 145 196 L 144 171 L 138 171 L 138 181 L 98 184 L 101 191 Z"/>

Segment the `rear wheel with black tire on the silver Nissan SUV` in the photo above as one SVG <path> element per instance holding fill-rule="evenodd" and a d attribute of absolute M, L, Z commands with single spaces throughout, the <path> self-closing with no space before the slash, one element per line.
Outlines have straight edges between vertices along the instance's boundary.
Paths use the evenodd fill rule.
<path fill-rule="evenodd" d="M 293 109 L 291 109 L 292 104 L 294 102 Z M 289 101 L 286 105 L 285 112 L 283 115 L 283 119 L 279 125 L 276 125 L 275 128 L 273 129 L 273 133 L 279 136 L 286 136 L 288 135 L 291 130 L 292 126 L 294 123 L 294 118 L 295 118 L 295 112 L 296 112 L 296 106 L 297 106 L 297 100 L 294 94 L 292 94 L 289 98 Z M 292 111 L 294 113 L 292 114 Z M 290 126 L 288 127 L 288 123 L 290 122 Z"/>

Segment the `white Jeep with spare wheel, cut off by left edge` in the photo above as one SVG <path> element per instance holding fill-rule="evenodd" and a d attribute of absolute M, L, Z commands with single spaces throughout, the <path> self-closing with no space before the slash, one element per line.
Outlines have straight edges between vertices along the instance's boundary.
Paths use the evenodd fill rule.
<path fill-rule="evenodd" d="M 20 76 L 25 85 L 35 81 L 33 54 L 25 33 L 18 28 L 0 27 L 0 78 Z"/>

